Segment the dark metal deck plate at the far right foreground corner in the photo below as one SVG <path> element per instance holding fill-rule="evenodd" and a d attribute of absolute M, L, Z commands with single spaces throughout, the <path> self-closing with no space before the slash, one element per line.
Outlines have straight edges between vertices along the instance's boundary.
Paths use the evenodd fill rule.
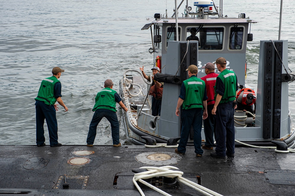
<path fill-rule="evenodd" d="M 295 170 L 265 170 L 266 182 L 275 185 L 295 185 Z"/>

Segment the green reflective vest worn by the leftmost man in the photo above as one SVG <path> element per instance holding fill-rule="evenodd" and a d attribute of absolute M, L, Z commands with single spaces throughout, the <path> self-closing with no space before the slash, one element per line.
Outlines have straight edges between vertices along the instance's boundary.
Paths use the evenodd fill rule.
<path fill-rule="evenodd" d="M 47 105 L 55 104 L 56 98 L 54 96 L 54 85 L 56 82 L 60 81 L 55 76 L 43 79 L 35 100 L 42 101 Z"/>

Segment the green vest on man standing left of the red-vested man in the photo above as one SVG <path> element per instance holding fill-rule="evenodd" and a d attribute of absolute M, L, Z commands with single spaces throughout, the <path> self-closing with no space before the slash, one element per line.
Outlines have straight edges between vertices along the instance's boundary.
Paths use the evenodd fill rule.
<path fill-rule="evenodd" d="M 186 89 L 182 109 L 202 108 L 205 91 L 205 82 L 197 77 L 190 77 L 183 81 Z"/>

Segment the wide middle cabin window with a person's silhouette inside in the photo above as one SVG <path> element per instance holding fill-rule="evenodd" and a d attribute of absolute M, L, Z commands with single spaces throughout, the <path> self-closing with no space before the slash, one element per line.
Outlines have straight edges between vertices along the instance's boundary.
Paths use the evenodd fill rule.
<path fill-rule="evenodd" d="M 191 26 L 186 28 L 186 41 L 199 41 L 199 50 L 222 50 L 223 35 L 223 27 Z"/>

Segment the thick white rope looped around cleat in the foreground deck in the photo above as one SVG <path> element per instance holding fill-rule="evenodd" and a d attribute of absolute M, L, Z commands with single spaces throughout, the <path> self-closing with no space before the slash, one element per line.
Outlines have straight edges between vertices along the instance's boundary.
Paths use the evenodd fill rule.
<path fill-rule="evenodd" d="M 190 180 L 185 179 L 184 177 L 182 177 L 183 172 L 181 171 L 174 171 L 171 169 L 176 169 L 179 170 L 177 167 L 173 167 L 173 166 L 163 166 L 163 167 L 140 167 L 142 169 L 147 169 L 148 171 L 146 172 L 140 172 L 134 175 L 133 177 L 133 183 L 136 186 L 137 190 L 140 192 L 140 194 L 142 196 L 144 196 L 145 194 L 143 193 L 143 191 L 141 190 L 141 188 L 139 187 L 139 185 L 137 184 L 137 181 L 141 182 L 142 184 L 152 188 L 153 190 L 161 193 L 162 195 L 167 195 L 167 196 L 172 196 L 168 193 L 166 193 L 163 190 L 160 190 L 159 188 L 149 184 L 148 182 L 145 182 L 142 179 L 148 179 L 148 178 L 152 178 L 152 177 L 156 177 L 156 176 L 164 176 L 164 177 L 176 177 L 176 179 L 179 182 L 182 182 L 183 184 L 203 193 L 204 195 L 208 195 L 208 196 L 222 196 L 217 192 L 214 192 L 210 189 L 207 189 L 206 187 L 203 187 L 195 182 L 192 182 Z"/>

